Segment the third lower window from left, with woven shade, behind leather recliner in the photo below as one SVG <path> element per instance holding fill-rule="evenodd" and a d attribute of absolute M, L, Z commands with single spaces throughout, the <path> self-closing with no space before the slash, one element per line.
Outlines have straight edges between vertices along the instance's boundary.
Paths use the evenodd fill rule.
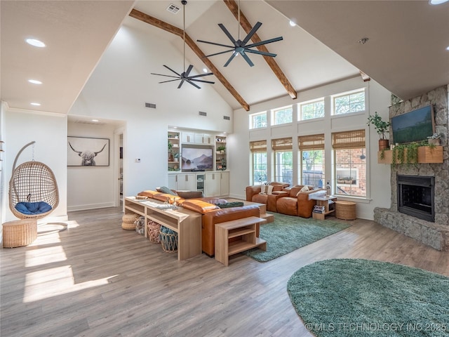
<path fill-rule="evenodd" d="M 324 134 L 299 136 L 300 185 L 323 187 L 324 176 Z"/>

